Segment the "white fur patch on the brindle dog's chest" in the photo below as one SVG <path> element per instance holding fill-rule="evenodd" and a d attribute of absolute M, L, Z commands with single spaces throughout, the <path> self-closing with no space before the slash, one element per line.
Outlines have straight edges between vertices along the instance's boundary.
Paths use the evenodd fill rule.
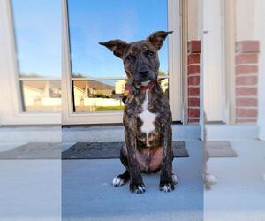
<path fill-rule="evenodd" d="M 149 133 L 151 133 L 152 131 L 155 131 L 155 118 L 157 116 L 156 113 L 151 113 L 148 110 L 148 103 L 149 103 L 149 99 L 148 99 L 148 91 L 146 92 L 146 97 L 144 102 L 142 103 L 142 112 L 139 114 L 139 117 L 142 121 L 142 126 L 140 127 L 140 130 L 142 133 L 146 133 L 147 134 L 147 146 L 149 147 Z"/>

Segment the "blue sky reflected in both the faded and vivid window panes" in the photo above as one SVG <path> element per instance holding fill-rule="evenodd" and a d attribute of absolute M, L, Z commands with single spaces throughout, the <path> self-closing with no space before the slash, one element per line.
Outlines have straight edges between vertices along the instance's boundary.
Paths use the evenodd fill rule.
<path fill-rule="evenodd" d="M 60 0 L 12 0 L 20 76 L 61 76 Z M 134 42 L 167 30 L 167 0 L 68 0 L 72 72 L 87 77 L 125 77 L 119 58 L 98 42 Z M 166 42 L 167 43 L 167 42 Z M 167 47 L 159 53 L 168 71 Z"/>

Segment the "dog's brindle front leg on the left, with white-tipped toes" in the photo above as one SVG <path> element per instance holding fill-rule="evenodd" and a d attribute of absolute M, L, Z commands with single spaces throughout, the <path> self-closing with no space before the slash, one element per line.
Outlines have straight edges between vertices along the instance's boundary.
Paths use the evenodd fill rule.
<path fill-rule="evenodd" d="M 136 159 L 136 136 L 133 135 L 133 132 L 129 128 L 125 129 L 125 142 L 128 152 L 129 172 L 131 178 L 130 191 L 135 194 L 142 194 L 146 191 L 146 188 L 142 181 L 140 167 Z"/>

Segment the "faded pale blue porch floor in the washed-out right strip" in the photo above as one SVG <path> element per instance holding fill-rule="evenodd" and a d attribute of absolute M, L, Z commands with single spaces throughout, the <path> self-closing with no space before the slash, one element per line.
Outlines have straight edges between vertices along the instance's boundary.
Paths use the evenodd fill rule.
<path fill-rule="evenodd" d="M 204 192 L 205 221 L 265 220 L 265 141 L 231 140 L 235 158 L 210 158 L 218 183 Z"/>

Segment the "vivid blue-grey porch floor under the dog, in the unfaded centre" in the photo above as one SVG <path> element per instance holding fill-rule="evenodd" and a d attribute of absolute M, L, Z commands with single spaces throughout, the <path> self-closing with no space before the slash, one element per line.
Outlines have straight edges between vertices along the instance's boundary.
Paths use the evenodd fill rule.
<path fill-rule="evenodd" d="M 171 193 L 158 189 L 159 174 L 144 176 L 147 191 L 132 194 L 128 184 L 112 187 L 124 171 L 118 159 L 65 160 L 62 164 L 64 220 L 202 220 L 202 142 L 186 141 L 188 158 L 175 158 L 178 186 Z"/>

